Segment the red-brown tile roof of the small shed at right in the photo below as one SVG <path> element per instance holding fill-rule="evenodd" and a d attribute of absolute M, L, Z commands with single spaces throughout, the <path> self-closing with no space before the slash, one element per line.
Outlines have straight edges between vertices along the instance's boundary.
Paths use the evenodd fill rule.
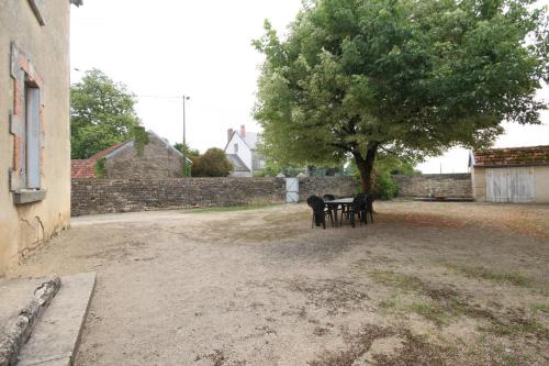
<path fill-rule="evenodd" d="M 474 166 L 549 165 L 549 145 L 490 148 L 474 153 Z"/>

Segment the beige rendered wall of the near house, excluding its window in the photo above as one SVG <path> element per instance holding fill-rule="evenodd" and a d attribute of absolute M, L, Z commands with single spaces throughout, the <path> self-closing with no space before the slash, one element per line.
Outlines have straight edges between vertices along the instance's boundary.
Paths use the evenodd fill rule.
<path fill-rule="evenodd" d="M 43 1 L 41 26 L 29 1 L 0 1 L 0 276 L 30 249 L 67 228 L 70 219 L 69 1 Z M 14 87 L 10 44 L 25 54 L 42 79 L 42 188 L 40 202 L 13 203 Z"/>

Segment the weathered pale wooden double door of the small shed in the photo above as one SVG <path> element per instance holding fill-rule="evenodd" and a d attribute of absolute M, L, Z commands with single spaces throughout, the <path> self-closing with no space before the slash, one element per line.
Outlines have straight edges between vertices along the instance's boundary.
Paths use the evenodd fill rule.
<path fill-rule="evenodd" d="M 489 202 L 533 202 L 533 167 L 486 169 L 486 200 Z"/>

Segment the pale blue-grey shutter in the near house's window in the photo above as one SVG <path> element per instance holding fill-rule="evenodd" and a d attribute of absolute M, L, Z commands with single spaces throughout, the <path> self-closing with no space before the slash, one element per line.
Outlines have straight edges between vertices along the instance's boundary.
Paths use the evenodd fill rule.
<path fill-rule="evenodd" d="M 40 89 L 26 88 L 26 188 L 40 189 Z"/>

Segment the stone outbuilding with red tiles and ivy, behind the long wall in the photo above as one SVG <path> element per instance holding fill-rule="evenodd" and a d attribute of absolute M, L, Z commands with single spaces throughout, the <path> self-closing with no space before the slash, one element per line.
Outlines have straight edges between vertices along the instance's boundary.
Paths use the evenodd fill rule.
<path fill-rule="evenodd" d="M 133 140 L 113 145 L 89 159 L 72 160 L 75 179 L 164 179 L 182 177 L 183 155 L 167 140 L 148 131 L 142 149 Z M 187 164 L 192 162 L 187 158 Z M 98 167 L 100 165 L 101 167 Z"/>

